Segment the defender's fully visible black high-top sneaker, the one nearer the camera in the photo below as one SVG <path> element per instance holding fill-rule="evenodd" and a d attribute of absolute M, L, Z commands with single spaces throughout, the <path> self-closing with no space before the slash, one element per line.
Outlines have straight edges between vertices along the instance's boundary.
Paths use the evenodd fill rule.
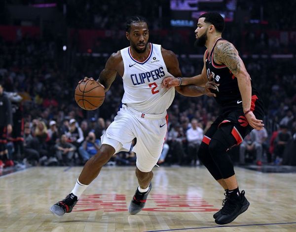
<path fill-rule="evenodd" d="M 215 220 L 219 225 L 224 225 L 232 222 L 238 215 L 245 212 L 250 205 L 250 202 L 245 198 L 243 190 L 239 196 L 231 195 L 225 201 L 221 209 L 221 214 Z"/>

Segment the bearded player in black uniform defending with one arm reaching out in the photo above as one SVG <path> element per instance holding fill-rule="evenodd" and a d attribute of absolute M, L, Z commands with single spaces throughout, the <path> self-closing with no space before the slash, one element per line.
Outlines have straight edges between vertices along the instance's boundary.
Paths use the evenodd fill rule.
<path fill-rule="evenodd" d="M 250 204 L 245 191 L 238 189 L 227 151 L 240 144 L 253 129 L 261 130 L 264 126 L 259 93 L 233 44 L 222 39 L 223 29 L 224 19 L 219 13 L 201 15 L 195 44 L 207 47 L 202 73 L 191 78 L 168 77 L 163 81 L 164 87 L 195 84 L 216 94 L 221 114 L 205 133 L 198 157 L 225 190 L 222 209 L 214 214 L 215 222 L 221 225 L 232 222 Z"/>

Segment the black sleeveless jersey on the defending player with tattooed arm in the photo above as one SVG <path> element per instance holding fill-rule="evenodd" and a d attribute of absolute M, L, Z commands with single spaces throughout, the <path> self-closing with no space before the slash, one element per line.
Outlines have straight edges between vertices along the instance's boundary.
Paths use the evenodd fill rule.
<path fill-rule="evenodd" d="M 242 97 L 238 88 L 237 78 L 225 65 L 219 65 L 214 61 L 214 48 L 217 45 L 217 42 L 221 40 L 226 41 L 222 38 L 219 38 L 215 42 L 211 53 L 209 54 L 208 50 L 206 51 L 206 68 L 208 78 L 210 74 L 213 73 L 214 81 L 220 84 L 217 91 L 214 91 L 217 96 L 215 99 L 222 107 L 222 111 L 225 112 L 228 110 L 242 108 Z M 252 80 L 251 86 L 252 96 L 258 96 L 258 91 L 254 89 Z"/>

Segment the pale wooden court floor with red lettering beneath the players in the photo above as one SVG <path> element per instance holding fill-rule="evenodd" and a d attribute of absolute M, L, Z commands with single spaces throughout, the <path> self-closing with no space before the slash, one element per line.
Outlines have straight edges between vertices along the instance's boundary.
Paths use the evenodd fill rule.
<path fill-rule="evenodd" d="M 136 187 L 134 167 L 104 167 L 73 212 L 49 207 L 72 190 L 82 167 L 32 167 L 0 177 L 0 232 L 296 232 L 296 174 L 236 168 L 251 205 L 221 227 L 213 214 L 223 191 L 204 167 L 155 167 L 146 207 L 127 208 Z"/>

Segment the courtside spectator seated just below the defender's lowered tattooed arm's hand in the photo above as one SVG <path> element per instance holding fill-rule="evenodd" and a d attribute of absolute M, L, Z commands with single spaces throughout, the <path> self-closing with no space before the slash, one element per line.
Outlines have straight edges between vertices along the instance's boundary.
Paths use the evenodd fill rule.
<path fill-rule="evenodd" d="M 239 161 L 241 165 L 245 164 L 245 156 L 246 152 L 249 153 L 256 153 L 256 164 L 258 166 L 262 165 L 261 157 L 262 157 L 262 145 L 257 142 L 258 138 L 256 133 L 254 133 L 254 130 L 249 133 L 243 140 L 243 142 L 240 144 L 239 147 Z"/>

